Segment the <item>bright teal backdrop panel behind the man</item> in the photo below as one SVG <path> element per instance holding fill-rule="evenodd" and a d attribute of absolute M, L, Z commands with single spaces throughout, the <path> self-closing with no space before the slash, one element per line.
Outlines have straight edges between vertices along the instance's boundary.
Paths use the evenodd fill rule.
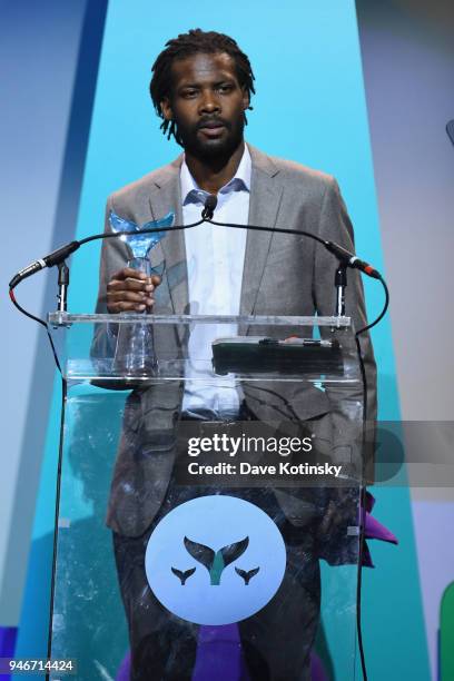
<path fill-rule="evenodd" d="M 249 112 L 248 141 L 269 154 L 334 174 L 356 233 L 356 247 L 383 272 L 382 246 L 367 116 L 352 1 L 233 1 L 171 7 L 146 1 L 109 3 L 77 237 L 100 231 L 107 195 L 171 160 L 179 149 L 159 131 L 148 97 L 150 66 L 164 42 L 190 27 L 230 33 L 250 57 L 257 96 Z M 207 19 L 209 18 L 209 19 Z M 71 268 L 70 309 L 93 309 L 99 249 L 77 254 Z M 369 317 L 382 290 L 366 283 Z M 388 320 L 374 332 L 381 367 L 381 417 L 399 417 Z M 33 540 L 51 532 L 57 452 L 57 391 L 49 420 Z M 371 679 L 428 678 L 408 491 L 377 490 L 379 519 L 401 537 L 399 549 L 374 546 L 377 571 L 364 576 L 363 629 Z M 80 515 L 87 509 L 80 509 Z M 30 584 L 28 585 L 30 590 Z M 26 599 L 22 623 L 36 618 Z M 392 604 L 391 604 L 392 603 Z M 389 612 L 393 616 L 389 616 Z M 43 620 L 45 621 L 45 620 Z M 405 636 L 402 635 L 405 630 Z M 398 641 L 398 647 L 389 642 Z M 18 654 L 29 640 L 21 631 Z M 29 653 L 27 653 L 29 654 Z"/>

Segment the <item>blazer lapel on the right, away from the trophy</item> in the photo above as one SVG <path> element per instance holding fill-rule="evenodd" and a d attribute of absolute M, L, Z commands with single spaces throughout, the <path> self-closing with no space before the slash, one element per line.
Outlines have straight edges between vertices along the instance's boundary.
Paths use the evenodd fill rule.
<path fill-rule="evenodd" d="M 274 228 L 284 189 L 276 179 L 279 170 L 267 156 L 248 146 L 253 161 L 248 224 Z M 254 314 L 272 237 L 272 231 L 248 230 L 247 233 L 241 280 L 241 315 Z"/>

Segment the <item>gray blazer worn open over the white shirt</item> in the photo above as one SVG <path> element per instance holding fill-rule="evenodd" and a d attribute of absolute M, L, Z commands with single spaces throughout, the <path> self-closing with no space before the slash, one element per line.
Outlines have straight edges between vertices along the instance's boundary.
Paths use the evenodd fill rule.
<path fill-rule="evenodd" d="M 333 239 L 353 250 L 353 228 L 335 179 L 299 164 L 266 156 L 249 145 L 251 186 L 249 224 L 289 227 Z M 115 210 L 121 217 L 144 224 L 169 211 L 181 224 L 179 171 L 181 156 L 136 182 L 112 194 L 107 201 L 107 217 Z M 185 237 L 170 231 L 151 251 L 152 263 L 166 260 L 166 274 L 156 290 L 158 314 L 188 312 L 188 279 Z M 106 239 L 102 247 L 97 312 L 107 312 L 106 286 L 111 275 L 125 267 L 128 254 L 119 239 Z M 241 282 L 240 314 L 253 315 L 332 315 L 334 313 L 335 260 L 322 246 L 306 237 L 248 231 Z M 356 328 L 366 324 L 364 294 L 359 274 L 348 274 L 346 314 Z M 263 329 L 267 333 L 266 329 Z M 269 329 L 268 329 L 269 330 Z M 255 328 L 254 333 L 260 333 Z M 178 338 L 168 333 L 155 338 L 168 351 Z M 98 343 L 100 340 L 98 339 Z M 368 336 L 362 338 L 368 385 L 368 418 L 376 415 L 376 368 Z M 99 352 L 99 348 L 98 348 Z M 102 352 L 102 351 L 100 351 Z M 266 388 L 266 383 L 261 384 Z M 302 421 L 317 420 L 325 440 L 333 434 L 335 411 L 329 396 L 318 389 L 288 384 L 285 395 L 272 396 L 243 385 L 249 409 L 260 421 L 282 421 L 283 403 L 292 405 Z M 265 399 L 263 395 L 266 395 Z M 283 399 L 284 398 L 284 399 Z M 361 395 L 358 395 L 361 398 Z M 174 465 L 174 432 L 182 399 L 182 386 L 169 383 L 135 391 L 127 401 L 122 435 L 115 466 L 107 523 L 116 532 L 139 536 L 152 522 L 166 494 Z M 285 417 L 285 416 L 284 416 Z M 288 420 L 294 415 L 288 414 Z M 346 444 L 352 433 L 336 428 L 335 444 Z M 338 442 L 344 433 L 345 443 Z M 298 522 L 295 500 L 283 497 L 288 513 Z"/>

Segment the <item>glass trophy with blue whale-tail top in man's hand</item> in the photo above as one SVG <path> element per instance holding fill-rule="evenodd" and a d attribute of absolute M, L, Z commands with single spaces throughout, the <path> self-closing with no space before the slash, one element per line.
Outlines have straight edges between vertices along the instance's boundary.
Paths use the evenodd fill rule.
<path fill-rule="evenodd" d="M 127 231 L 119 238 L 125 241 L 130 250 L 128 267 L 142 272 L 147 277 L 158 275 L 162 277 L 166 263 L 162 260 L 159 267 L 152 267 L 149 254 L 166 236 L 167 231 L 158 231 L 162 227 L 171 227 L 175 215 L 168 213 L 159 220 L 150 220 L 145 225 L 137 225 L 118 216 L 112 210 L 109 215 L 109 224 L 114 233 Z M 157 231 L 144 234 L 145 229 L 156 228 Z M 136 314 L 136 313 L 135 313 Z M 149 314 L 146 309 L 142 315 Z M 145 318 L 144 318 L 145 322 Z M 117 346 L 115 351 L 114 365 L 116 371 L 127 379 L 144 376 L 154 376 L 158 368 L 155 354 L 154 329 L 150 324 L 119 324 Z"/>

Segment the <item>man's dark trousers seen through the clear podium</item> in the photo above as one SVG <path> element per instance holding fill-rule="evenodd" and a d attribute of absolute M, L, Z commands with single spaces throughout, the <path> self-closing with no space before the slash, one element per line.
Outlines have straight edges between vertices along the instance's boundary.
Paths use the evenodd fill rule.
<path fill-rule="evenodd" d="M 151 532 L 169 511 L 190 499 L 214 493 L 210 487 L 179 487 L 170 483 L 159 514 L 142 536 L 114 533 L 134 681 L 191 679 L 199 625 L 171 614 L 155 598 L 145 573 L 145 552 Z M 235 488 L 221 493 L 245 499 L 265 511 L 279 527 L 287 550 L 286 572 L 277 593 L 259 612 L 238 623 L 248 677 L 250 681 L 308 681 L 320 601 L 313 532 L 310 527 L 297 529 L 288 522 L 270 488 Z M 221 670 L 218 677 L 221 678 Z"/>

